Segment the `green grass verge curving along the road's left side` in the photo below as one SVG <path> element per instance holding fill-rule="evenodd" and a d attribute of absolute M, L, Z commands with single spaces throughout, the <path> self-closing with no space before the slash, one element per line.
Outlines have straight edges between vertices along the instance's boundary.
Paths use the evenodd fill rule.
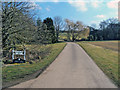
<path fill-rule="evenodd" d="M 2 79 L 3 82 L 10 82 L 13 80 L 17 80 L 19 78 L 24 78 L 24 76 L 33 74 L 36 71 L 39 71 L 43 67 L 49 65 L 55 58 L 59 55 L 59 53 L 63 50 L 66 43 L 56 43 L 50 44 L 46 47 L 52 47 L 49 54 L 42 60 L 33 64 L 20 64 L 15 66 L 5 66 L 2 68 Z M 44 46 L 43 46 L 44 47 Z M 33 46 L 28 45 L 27 48 L 33 48 Z M 34 50 L 41 50 L 42 47 L 34 47 Z M 44 47 L 45 49 L 45 47 Z"/>

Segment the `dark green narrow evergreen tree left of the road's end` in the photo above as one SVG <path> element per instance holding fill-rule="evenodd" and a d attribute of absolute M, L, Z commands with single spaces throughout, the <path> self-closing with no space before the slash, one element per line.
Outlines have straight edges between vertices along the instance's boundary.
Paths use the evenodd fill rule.
<path fill-rule="evenodd" d="M 53 25 L 53 20 L 48 17 L 43 21 L 43 23 L 47 25 L 48 37 L 49 37 L 48 42 L 55 43 L 56 37 L 55 37 L 55 29 L 54 29 L 54 25 Z"/>

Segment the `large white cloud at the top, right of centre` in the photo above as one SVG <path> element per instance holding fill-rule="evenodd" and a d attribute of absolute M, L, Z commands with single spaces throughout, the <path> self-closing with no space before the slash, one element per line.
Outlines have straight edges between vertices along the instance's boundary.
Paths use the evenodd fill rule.
<path fill-rule="evenodd" d="M 78 11 L 87 11 L 86 2 L 84 0 L 70 0 L 68 3 L 75 7 Z"/>

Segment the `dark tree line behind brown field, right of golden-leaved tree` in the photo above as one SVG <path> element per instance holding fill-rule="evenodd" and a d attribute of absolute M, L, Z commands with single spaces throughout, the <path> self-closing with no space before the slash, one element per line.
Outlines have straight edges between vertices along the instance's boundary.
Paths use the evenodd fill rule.
<path fill-rule="evenodd" d="M 99 26 L 99 29 L 89 26 L 88 40 L 120 40 L 120 22 L 116 18 L 104 20 Z"/>

